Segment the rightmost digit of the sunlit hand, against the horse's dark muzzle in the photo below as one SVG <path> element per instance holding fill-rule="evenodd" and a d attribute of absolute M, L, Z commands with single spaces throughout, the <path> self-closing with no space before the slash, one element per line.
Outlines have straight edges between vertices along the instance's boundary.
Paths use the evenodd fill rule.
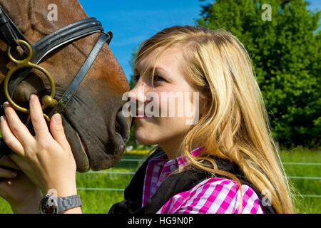
<path fill-rule="evenodd" d="M 61 145 L 61 147 L 63 147 L 63 150 L 69 151 L 70 145 L 66 138 L 65 131 L 63 130 L 61 115 L 59 113 L 52 116 L 50 121 L 50 130 L 52 137 L 59 143 L 59 145 Z"/>

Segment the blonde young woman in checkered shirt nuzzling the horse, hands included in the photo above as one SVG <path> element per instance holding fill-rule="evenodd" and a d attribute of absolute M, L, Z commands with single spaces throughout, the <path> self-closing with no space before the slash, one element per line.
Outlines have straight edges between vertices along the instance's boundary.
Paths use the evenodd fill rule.
<path fill-rule="evenodd" d="M 238 38 L 193 26 L 165 28 L 142 43 L 135 73 L 137 84 L 128 96 L 141 104 L 136 139 L 158 147 L 111 213 L 293 213 L 263 98 Z M 175 115 L 168 114 L 173 106 L 161 105 L 168 97 Z M 178 115 L 182 100 L 185 110 L 193 107 L 193 124 L 187 113 Z M 9 178 L 0 182 L 1 197 L 14 212 L 39 212 L 39 189 L 76 195 L 76 164 L 60 115 L 51 120 L 51 136 L 31 95 L 34 137 L 5 106 L 1 133 L 16 154 L 0 160 L 0 177 Z M 5 166 L 25 175 L 12 177 Z M 78 212 L 80 207 L 65 213 Z"/>

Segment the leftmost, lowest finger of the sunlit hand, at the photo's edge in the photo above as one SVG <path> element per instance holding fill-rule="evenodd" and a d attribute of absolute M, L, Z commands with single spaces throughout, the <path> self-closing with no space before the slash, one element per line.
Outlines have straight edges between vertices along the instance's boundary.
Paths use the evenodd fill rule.
<path fill-rule="evenodd" d="M 24 155 L 24 147 L 16 138 L 16 135 L 14 135 L 14 133 L 11 131 L 8 120 L 5 116 L 0 117 L 0 128 L 2 139 L 4 140 L 4 142 L 6 142 L 6 145 L 19 155 Z"/>

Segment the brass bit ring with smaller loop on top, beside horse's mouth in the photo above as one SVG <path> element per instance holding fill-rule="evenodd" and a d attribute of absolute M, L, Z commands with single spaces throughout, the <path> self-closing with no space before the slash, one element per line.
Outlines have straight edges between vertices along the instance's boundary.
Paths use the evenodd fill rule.
<path fill-rule="evenodd" d="M 42 110 L 44 110 L 47 107 L 53 108 L 57 104 L 57 100 L 54 99 L 55 90 L 56 90 L 54 80 L 52 79 L 50 73 L 48 71 L 46 71 L 45 68 L 42 68 L 41 66 L 30 62 L 31 57 L 32 57 L 32 48 L 29 45 L 29 43 L 27 43 L 26 41 L 23 41 L 23 40 L 17 40 L 17 42 L 20 44 L 23 44 L 24 46 L 26 46 L 26 48 L 28 48 L 29 56 L 27 56 L 26 58 L 24 58 L 22 60 L 17 60 L 16 58 L 14 58 L 11 55 L 11 52 L 10 52 L 11 47 L 8 46 L 8 48 L 6 49 L 6 53 L 9 56 L 10 60 L 13 61 L 14 63 L 16 63 L 16 66 L 14 68 L 11 68 L 10 71 L 8 73 L 6 73 L 6 78 L 4 78 L 4 95 L 6 95 L 6 99 L 12 105 L 12 107 L 14 109 L 19 110 L 23 113 L 30 113 L 29 109 L 23 108 L 23 107 L 17 105 L 14 102 L 14 100 L 12 100 L 12 98 L 9 94 L 9 80 L 10 80 L 11 76 L 14 74 L 14 72 L 18 71 L 21 68 L 36 68 L 39 71 L 42 71 L 46 75 L 46 77 L 49 79 L 49 82 L 51 84 L 51 94 L 45 95 L 44 98 L 42 98 L 44 105 L 42 105 L 41 108 L 42 108 Z M 50 118 L 45 113 L 44 113 L 44 118 L 46 118 L 46 120 L 48 122 L 50 121 Z"/>

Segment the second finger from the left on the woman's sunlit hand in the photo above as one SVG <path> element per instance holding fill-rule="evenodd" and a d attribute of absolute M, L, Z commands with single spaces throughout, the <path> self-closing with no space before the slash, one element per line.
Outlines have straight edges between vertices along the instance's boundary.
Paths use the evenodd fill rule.
<path fill-rule="evenodd" d="M 4 113 L 6 113 L 6 121 L 9 123 L 11 132 L 16 135 L 16 138 L 23 144 L 28 145 L 34 142 L 34 136 L 31 135 L 26 125 L 24 125 L 19 116 L 16 115 L 16 111 L 11 107 L 9 102 L 4 103 Z"/>

